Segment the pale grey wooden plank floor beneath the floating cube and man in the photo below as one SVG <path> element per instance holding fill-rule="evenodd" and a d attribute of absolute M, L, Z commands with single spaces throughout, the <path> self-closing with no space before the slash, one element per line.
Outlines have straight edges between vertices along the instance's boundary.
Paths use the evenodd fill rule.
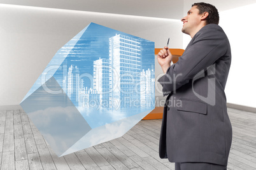
<path fill-rule="evenodd" d="M 256 114 L 228 109 L 233 141 L 228 169 L 256 169 Z M 174 169 L 159 159 L 162 120 L 140 121 L 122 138 L 57 157 L 22 110 L 0 112 L 1 169 Z"/>

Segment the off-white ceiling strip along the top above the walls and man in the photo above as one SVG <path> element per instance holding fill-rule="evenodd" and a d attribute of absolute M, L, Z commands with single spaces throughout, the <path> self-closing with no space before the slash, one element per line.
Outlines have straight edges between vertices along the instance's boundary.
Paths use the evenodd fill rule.
<path fill-rule="evenodd" d="M 2 4 L 36 6 L 64 10 L 93 11 L 157 18 L 183 18 L 195 0 L 0 0 Z M 256 0 L 204 0 L 225 11 L 256 3 Z"/>

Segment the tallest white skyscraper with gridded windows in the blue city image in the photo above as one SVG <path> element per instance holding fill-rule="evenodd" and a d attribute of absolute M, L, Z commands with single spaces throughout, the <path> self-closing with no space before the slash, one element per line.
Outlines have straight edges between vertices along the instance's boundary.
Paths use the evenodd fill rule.
<path fill-rule="evenodd" d="M 139 107 L 141 74 L 141 41 L 118 34 L 109 39 L 110 107 Z"/>

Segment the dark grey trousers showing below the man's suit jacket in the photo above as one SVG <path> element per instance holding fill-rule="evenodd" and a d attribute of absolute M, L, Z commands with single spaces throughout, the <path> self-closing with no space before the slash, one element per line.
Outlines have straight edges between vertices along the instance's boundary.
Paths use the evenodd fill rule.
<path fill-rule="evenodd" d="M 175 162 L 175 170 L 227 170 L 227 166 L 206 162 Z"/>

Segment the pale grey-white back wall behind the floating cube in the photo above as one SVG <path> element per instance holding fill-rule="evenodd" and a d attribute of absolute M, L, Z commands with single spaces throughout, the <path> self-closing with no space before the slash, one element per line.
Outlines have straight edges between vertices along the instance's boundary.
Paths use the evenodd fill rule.
<path fill-rule="evenodd" d="M 179 20 L 0 4 L 0 106 L 18 105 L 57 50 L 90 22 L 182 48 Z M 162 73 L 155 65 L 155 76 Z M 162 96 L 156 93 L 156 96 Z"/>

